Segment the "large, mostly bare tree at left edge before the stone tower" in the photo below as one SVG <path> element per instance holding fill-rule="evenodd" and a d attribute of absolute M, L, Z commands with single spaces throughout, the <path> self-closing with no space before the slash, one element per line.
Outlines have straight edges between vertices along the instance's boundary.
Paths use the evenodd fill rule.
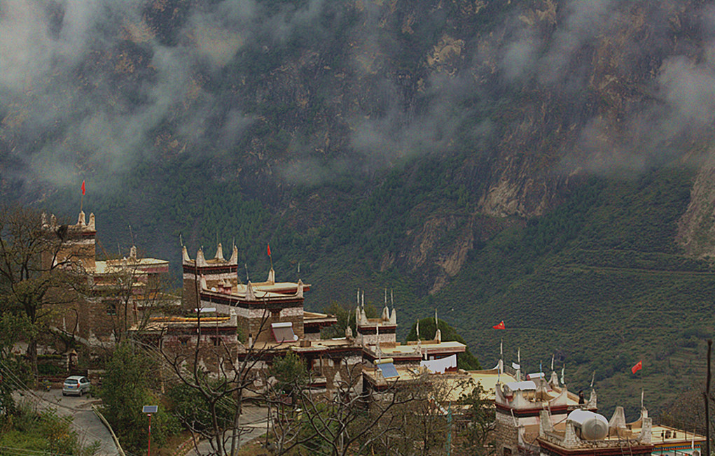
<path fill-rule="evenodd" d="M 43 218 L 30 208 L 0 207 L 0 308 L 24 313 L 35 329 L 27 347 L 35 378 L 38 335 L 48 329 L 53 308 L 74 302 L 87 284 L 77 251 L 63 250 L 68 226 Z"/>

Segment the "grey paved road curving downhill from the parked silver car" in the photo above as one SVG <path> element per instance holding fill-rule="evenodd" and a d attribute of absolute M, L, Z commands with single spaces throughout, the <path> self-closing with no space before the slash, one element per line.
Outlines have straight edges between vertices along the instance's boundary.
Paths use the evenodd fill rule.
<path fill-rule="evenodd" d="M 116 456 L 119 454 L 109 430 L 104 427 L 102 421 L 92 411 L 92 402 L 97 402 L 95 397 L 90 395 L 64 397 L 61 389 L 33 391 L 32 395 L 25 394 L 24 397 L 20 397 L 15 393 L 15 400 L 23 399 L 30 400 L 40 410 L 54 408 L 57 410 L 58 415 L 72 417 L 72 428 L 77 431 L 79 442 L 82 445 L 91 445 L 95 440 L 98 440 L 102 445 L 99 447 L 99 452 L 95 453 L 97 456 Z"/>

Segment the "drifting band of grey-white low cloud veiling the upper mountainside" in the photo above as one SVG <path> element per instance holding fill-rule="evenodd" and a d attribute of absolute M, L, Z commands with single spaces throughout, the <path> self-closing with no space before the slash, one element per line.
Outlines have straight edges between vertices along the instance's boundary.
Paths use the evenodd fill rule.
<path fill-rule="evenodd" d="M 423 153 L 449 153 L 459 141 L 480 153 L 483 144 L 506 141 L 497 132 L 525 123 L 517 111 L 501 117 L 518 103 L 533 103 L 530 113 L 562 116 L 554 128 L 576 128 L 574 152 L 564 161 L 569 166 L 638 169 L 667 158 L 679 138 L 715 120 L 715 9 L 686 0 L 672 7 L 614 0 L 511 4 L 503 7 L 506 14 L 489 16 L 499 18 L 492 29 L 460 32 L 450 28 L 445 6 L 187 5 L 2 2 L 2 177 L 65 186 L 87 174 L 121 176 L 139 161 L 167 154 L 210 158 L 245 147 L 253 127 L 268 125 L 291 138 L 291 164 L 277 172 L 290 183 L 325 182 Z M 486 16 L 475 21 L 488 24 Z M 674 39 L 685 33 L 704 41 Z M 420 41 L 420 34 L 434 42 Z M 430 66 L 439 43 L 450 46 L 449 61 Z M 291 47 L 297 45 L 308 47 Z M 336 65 L 332 52 L 347 55 Z M 265 65 L 260 59 L 281 53 L 292 57 L 280 69 L 245 80 L 255 76 L 253 65 Z M 323 90 L 318 84 L 327 78 L 335 86 Z M 247 83 L 260 93 L 242 92 Z M 499 111 L 504 100 L 515 104 Z M 300 120 L 320 103 L 327 113 L 315 117 L 315 128 L 327 131 L 325 138 L 323 131 L 295 131 L 293 120 L 267 121 L 255 108 L 279 106 Z"/>

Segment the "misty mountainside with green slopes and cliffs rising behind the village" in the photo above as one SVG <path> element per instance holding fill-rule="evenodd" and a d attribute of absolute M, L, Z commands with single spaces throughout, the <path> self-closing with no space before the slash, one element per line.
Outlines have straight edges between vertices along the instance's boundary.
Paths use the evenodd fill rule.
<path fill-rule="evenodd" d="M 242 280 L 270 243 L 313 310 L 394 289 L 401 337 L 437 308 L 482 365 L 503 337 L 576 389 L 596 371 L 606 410 L 641 385 L 658 410 L 715 327 L 714 22 L 697 0 L 2 4 L 0 193 L 82 204 L 109 255 L 177 280 L 180 242 L 235 243 Z"/>

